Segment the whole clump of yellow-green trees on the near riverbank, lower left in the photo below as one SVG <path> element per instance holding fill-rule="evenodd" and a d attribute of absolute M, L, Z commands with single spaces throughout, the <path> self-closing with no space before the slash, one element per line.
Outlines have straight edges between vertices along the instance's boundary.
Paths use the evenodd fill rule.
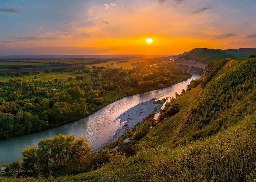
<path fill-rule="evenodd" d="M 86 156 L 91 154 L 92 149 L 93 147 L 88 145 L 88 140 L 85 138 L 76 139 L 74 135 L 58 134 L 53 139 L 40 140 L 38 149 L 34 145 L 25 148 L 21 152 L 21 163 L 16 161 L 4 166 L 9 171 L 15 170 L 17 173 L 26 174 L 27 171 L 33 173 L 35 168 L 39 168 L 42 172 L 48 172 L 50 164 L 54 168 L 68 165 L 79 166 Z M 6 175 L 12 174 L 7 173 Z"/>

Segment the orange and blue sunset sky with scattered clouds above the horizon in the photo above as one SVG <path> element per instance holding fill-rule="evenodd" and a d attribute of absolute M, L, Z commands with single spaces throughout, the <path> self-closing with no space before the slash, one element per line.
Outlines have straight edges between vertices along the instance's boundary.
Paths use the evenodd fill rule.
<path fill-rule="evenodd" d="M 0 0 L 0 55 L 256 47 L 255 9 L 256 0 Z"/>

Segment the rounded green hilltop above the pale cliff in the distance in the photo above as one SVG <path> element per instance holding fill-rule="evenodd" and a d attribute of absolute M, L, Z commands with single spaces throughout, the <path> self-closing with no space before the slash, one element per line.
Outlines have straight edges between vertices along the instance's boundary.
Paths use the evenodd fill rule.
<path fill-rule="evenodd" d="M 216 59 L 232 58 L 233 56 L 231 54 L 222 52 L 220 50 L 196 48 L 190 51 L 190 53 L 182 57 L 185 58 L 186 60 L 193 59 L 196 61 L 201 61 L 203 63 L 208 63 Z"/>

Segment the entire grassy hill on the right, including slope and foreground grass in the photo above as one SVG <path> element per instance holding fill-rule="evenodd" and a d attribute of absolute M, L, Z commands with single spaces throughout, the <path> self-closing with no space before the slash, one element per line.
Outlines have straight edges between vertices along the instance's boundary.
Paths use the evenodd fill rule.
<path fill-rule="evenodd" d="M 253 181 L 256 176 L 256 59 L 209 64 L 208 77 L 173 101 L 165 118 L 101 169 L 57 179 L 20 181 Z M 1 178 L 0 181 L 10 181 Z"/>

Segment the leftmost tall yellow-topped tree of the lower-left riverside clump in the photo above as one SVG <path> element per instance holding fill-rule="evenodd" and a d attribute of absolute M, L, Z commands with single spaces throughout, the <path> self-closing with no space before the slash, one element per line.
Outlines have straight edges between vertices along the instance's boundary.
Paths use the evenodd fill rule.
<path fill-rule="evenodd" d="M 26 170 L 34 170 L 38 162 L 35 145 L 29 146 L 21 151 L 22 168 Z"/>

